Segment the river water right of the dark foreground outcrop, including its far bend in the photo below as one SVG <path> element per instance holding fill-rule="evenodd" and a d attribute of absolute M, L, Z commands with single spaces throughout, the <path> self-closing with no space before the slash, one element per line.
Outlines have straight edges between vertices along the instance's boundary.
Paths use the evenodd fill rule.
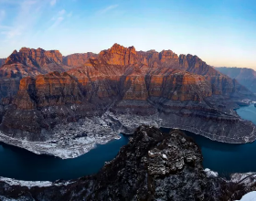
<path fill-rule="evenodd" d="M 242 119 L 256 124 L 254 105 L 241 107 L 237 113 Z M 229 177 L 232 173 L 256 172 L 256 142 L 246 144 L 218 143 L 188 132 L 201 147 L 204 167 Z"/>

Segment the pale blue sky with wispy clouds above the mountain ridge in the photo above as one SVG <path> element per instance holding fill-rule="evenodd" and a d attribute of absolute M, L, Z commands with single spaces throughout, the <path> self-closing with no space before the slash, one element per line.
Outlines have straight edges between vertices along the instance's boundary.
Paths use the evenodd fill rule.
<path fill-rule="evenodd" d="M 0 58 L 22 47 L 68 55 L 99 53 L 114 43 L 256 69 L 256 2 L 0 0 Z"/>

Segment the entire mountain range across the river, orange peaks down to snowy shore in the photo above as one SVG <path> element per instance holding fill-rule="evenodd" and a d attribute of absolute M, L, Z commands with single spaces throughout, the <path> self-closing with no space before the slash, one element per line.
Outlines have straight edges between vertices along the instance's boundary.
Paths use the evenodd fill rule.
<path fill-rule="evenodd" d="M 76 157 L 142 124 L 226 143 L 256 138 L 233 111 L 255 95 L 197 56 L 118 44 L 64 58 L 22 48 L 0 72 L 0 140 L 35 153 Z"/>

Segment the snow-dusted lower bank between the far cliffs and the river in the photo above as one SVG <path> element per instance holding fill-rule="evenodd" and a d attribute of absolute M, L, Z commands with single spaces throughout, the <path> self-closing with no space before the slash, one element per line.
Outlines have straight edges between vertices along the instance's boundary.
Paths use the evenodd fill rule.
<path fill-rule="evenodd" d="M 235 112 L 236 110 L 234 109 Z M 222 122 L 214 122 L 197 117 L 181 117 L 173 113 L 156 112 L 149 116 L 139 116 L 134 114 L 115 115 L 106 111 L 101 117 L 85 118 L 79 122 L 57 125 L 49 132 L 51 138 L 45 142 L 21 140 L 7 136 L 3 132 L 0 132 L 0 142 L 25 149 L 31 153 L 46 154 L 61 159 L 76 158 L 88 153 L 97 144 L 120 140 L 120 133 L 130 135 L 140 125 L 193 132 L 219 143 L 254 142 L 256 140 L 255 124 L 243 120 L 241 117 L 237 120 L 239 121 L 233 123 L 225 122 L 225 119 Z M 219 132 L 219 127 L 225 127 L 225 129 Z M 209 132 L 211 130 L 212 132 Z M 243 135 L 240 135 L 240 131 Z"/>

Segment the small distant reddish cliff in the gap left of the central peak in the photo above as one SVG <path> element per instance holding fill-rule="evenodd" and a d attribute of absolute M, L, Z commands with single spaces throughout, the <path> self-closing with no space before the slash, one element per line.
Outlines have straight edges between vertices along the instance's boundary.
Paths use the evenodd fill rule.
<path fill-rule="evenodd" d="M 89 58 L 97 58 L 98 55 L 92 52 L 84 54 L 72 54 L 66 57 L 63 57 L 63 64 L 69 67 L 81 67 L 83 66 Z"/>

